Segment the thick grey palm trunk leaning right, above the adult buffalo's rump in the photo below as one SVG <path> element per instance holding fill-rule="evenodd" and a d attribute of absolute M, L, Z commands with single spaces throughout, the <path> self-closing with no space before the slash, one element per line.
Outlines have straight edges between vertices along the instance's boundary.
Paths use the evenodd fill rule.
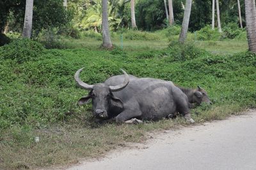
<path fill-rule="evenodd" d="M 192 6 L 192 0 L 186 0 L 184 17 L 183 17 L 183 21 L 182 21 L 180 36 L 179 36 L 180 43 L 184 43 L 186 36 L 187 36 L 189 17 L 190 17 L 190 13 L 191 13 L 191 6 Z"/>

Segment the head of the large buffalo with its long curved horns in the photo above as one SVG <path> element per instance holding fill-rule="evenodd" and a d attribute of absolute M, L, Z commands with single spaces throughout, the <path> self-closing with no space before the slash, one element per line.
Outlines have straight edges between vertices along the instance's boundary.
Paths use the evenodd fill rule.
<path fill-rule="evenodd" d="M 92 99 L 93 112 L 97 118 L 109 118 L 109 116 L 113 113 L 117 113 L 122 111 L 124 108 L 124 103 L 113 95 L 113 92 L 118 92 L 124 89 L 129 83 L 129 76 L 124 71 L 124 82 L 120 85 L 106 85 L 105 83 L 97 83 L 95 85 L 88 85 L 84 83 L 79 78 L 79 73 L 83 68 L 76 71 L 74 76 L 77 84 L 82 89 L 90 90 L 88 96 L 84 96 L 79 99 L 78 104 L 86 104 Z"/>

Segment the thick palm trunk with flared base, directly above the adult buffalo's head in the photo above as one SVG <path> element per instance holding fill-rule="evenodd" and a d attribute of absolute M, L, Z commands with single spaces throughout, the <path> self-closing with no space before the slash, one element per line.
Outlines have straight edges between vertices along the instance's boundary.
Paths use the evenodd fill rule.
<path fill-rule="evenodd" d="M 108 27 L 108 0 L 102 0 L 102 46 L 104 48 L 112 48 L 109 27 Z"/>

